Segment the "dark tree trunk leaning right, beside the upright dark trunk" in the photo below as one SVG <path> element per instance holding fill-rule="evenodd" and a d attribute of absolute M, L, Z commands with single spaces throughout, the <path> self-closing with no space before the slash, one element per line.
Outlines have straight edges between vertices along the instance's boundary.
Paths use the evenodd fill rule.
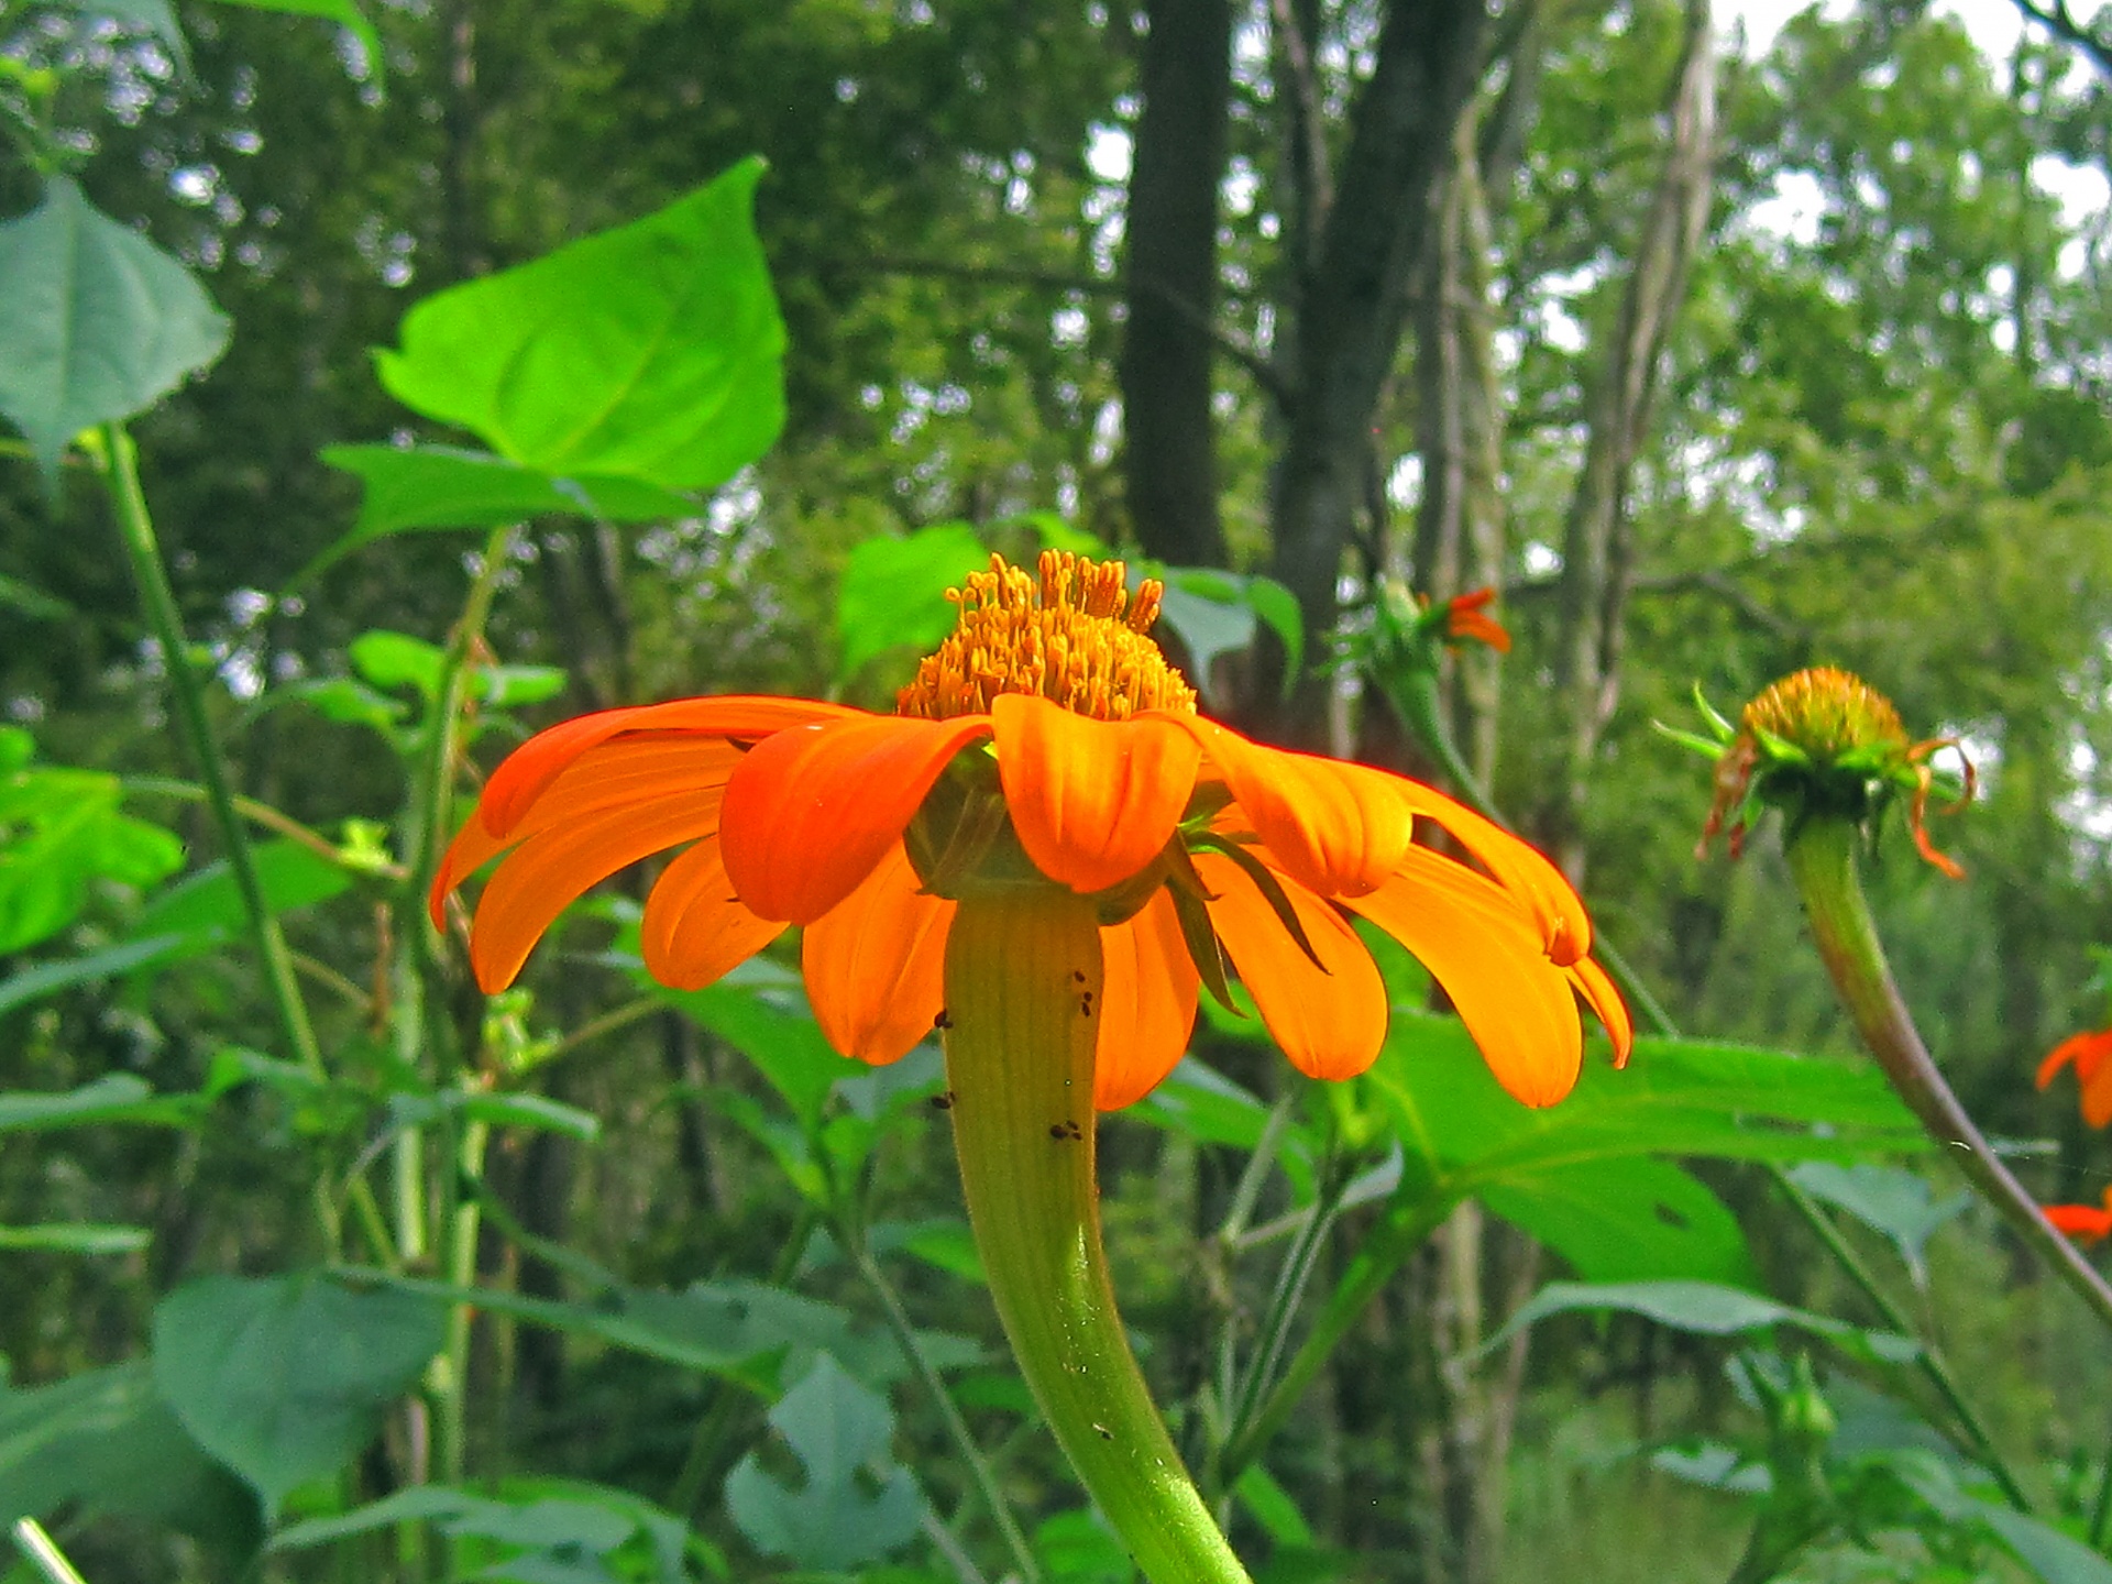
<path fill-rule="evenodd" d="M 1335 581 L 1373 469 L 1371 420 L 1394 367 L 1430 232 L 1430 199 L 1481 70 L 1483 0 L 1390 0 L 1377 65 L 1350 110 L 1350 144 L 1295 302 L 1297 378 L 1276 469 L 1271 572 L 1297 596 L 1307 646 L 1335 623 Z M 1278 714 L 1278 737 L 1326 718 L 1318 682 Z"/>

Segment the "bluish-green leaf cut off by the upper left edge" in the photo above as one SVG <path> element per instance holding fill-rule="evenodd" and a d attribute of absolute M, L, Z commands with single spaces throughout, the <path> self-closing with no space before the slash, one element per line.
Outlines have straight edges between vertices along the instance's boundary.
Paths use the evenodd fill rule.
<path fill-rule="evenodd" d="M 82 429 L 146 412 L 228 344 L 190 270 L 63 175 L 0 224 L 0 416 L 46 477 Z"/>

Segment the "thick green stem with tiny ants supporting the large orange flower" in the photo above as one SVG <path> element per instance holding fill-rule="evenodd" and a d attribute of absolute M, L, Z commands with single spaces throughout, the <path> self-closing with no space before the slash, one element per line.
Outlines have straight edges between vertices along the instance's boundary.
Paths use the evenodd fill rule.
<path fill-rule="evenodd" d="M 946 936 L 946 1075 L 961 1191 L 1020 1373 L 1151 1584 L 1250 1584 L 1130 1354 L 1100 1246 L 1092 902 L 993 885 Z"/>

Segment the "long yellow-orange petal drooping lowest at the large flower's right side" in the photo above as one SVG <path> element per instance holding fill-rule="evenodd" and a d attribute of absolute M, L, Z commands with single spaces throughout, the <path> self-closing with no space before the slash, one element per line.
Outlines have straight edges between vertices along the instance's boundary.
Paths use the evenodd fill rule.
<path fill-rule="evenodd" d="M 1497 1083 L 1525 1105 L 1569 1094 L 1584 1060 L 1576 995 L 1508 891 L 1413 847 L 1392 881 L 1350 906 L 1436 976 Z"/>

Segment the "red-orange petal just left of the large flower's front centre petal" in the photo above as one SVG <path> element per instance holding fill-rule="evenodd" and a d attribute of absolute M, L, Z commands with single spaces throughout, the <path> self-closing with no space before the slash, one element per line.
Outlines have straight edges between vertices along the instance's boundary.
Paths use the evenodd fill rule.
<path fill-rule="evenodd" d="M 893 847 L 925 792 L 988 716 L 855 716 L 756 743 L 727 784 L 720 841 L 750 912 L 813 923 Z"/>

